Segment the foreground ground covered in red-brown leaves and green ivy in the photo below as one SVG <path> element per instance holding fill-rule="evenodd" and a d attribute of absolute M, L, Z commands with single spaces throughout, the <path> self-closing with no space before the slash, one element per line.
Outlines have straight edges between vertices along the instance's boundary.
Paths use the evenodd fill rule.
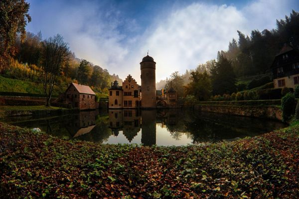
<path fill-rule="evenodd" d="M 299 198 L 299 125 L 186 147 L 67 141 L 0 123 L 0 198 Z"/>

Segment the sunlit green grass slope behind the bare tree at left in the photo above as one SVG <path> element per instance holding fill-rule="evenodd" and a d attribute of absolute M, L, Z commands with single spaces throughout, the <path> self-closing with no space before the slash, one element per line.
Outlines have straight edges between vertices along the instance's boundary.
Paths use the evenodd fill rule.
<path fill-rule="evenodd" d="M 66 88 L 59 88 L 58 86 L 54 86 L 53 95 L 58 95 L 65 90 Z M 44 94 L 42 83 L 10 79 L 2 76 L 0 76 L 0 91 Z"/>

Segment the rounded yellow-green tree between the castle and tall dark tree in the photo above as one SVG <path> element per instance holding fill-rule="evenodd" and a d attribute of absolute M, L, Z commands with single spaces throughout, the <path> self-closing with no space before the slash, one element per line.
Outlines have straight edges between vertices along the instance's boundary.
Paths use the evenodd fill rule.
<path fill-rule="evenodd" d="M 200 101 L 208 100 L 211 96 L 212 85 L 207 71 L 191 72 L 190 80 L 191 82 L 185 86 L 185 96 L 193 95 Z"/>

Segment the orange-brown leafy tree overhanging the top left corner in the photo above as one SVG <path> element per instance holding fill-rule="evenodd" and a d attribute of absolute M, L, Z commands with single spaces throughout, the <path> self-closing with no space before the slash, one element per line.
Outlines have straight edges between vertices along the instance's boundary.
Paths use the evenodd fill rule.
<path fill-rule="evenodd" d="M 15 38 L 21 35 L 25 39 L 27 22 L 31 21 L 28 14 L 29 3 L 25 0 L 0 1 L 0 72 L 9 64 L 11 55 L 15 54 Z"/>

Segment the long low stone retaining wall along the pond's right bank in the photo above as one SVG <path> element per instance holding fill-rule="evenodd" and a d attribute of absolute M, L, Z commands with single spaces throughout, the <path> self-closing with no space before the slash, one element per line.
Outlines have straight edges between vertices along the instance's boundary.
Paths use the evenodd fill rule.
<path fill-rule="evenodd" d="M 194 110 L 240 115 L 247 117 L 269 118 L 282 121 L 282 111 L 277 106 L 223 106 L 223 105 L 194 105 Z"/>

